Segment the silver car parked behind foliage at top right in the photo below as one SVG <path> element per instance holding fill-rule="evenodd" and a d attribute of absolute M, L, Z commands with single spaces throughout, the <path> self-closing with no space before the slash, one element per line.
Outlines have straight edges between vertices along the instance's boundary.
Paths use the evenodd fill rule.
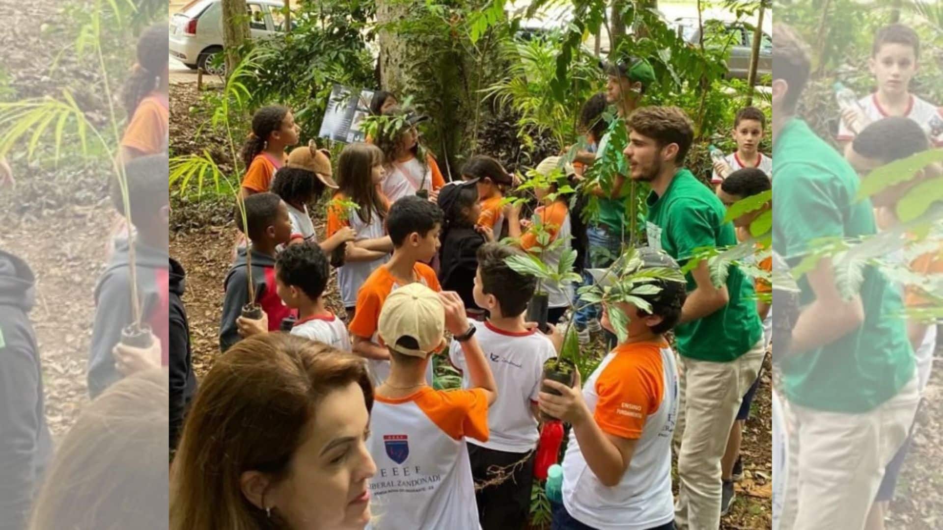
<path fill-rule="evenodd" d="M 697 19 L 676 19 L 675 24 L 682 38 L 691 45 L 701 40 L 701 28 Z M 753 53 L 753 25 L 745 22 L 724 22 L 706 20 L 703 22 L 704 45 L 710 47 L 728 47 L 727 76 L 746 79 L 750 75 L 750 56 Z M 765 31 L 760 41 L 759 63 L 756 65 L 757 76 L 772 75 L 772 38 Z"/>

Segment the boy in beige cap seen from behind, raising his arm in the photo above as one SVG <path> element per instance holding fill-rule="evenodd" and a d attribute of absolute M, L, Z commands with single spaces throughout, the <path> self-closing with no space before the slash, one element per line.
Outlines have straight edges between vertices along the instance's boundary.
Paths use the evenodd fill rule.
<path fill-rule="evenodd" d="M 379 528 L 478 528 L 466 438 L 488 440 L 497 386 L 454 291 L 410 283 L 389 293 L 377 323 L 389 376 L 376 387 L 367 448 Z M 448 329 L 461 344 L 470 389 L 435 390 L 424 373 Z"/>

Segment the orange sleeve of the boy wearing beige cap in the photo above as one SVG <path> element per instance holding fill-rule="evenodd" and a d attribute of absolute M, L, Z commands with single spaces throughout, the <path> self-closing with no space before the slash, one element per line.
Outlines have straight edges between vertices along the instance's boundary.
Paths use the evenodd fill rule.
<path fill-rule="evenodd" d="M 416 405 L 452 437 L 488 441 L 488 397 L 485 389 L 428 390 L 416 399 Z"/>

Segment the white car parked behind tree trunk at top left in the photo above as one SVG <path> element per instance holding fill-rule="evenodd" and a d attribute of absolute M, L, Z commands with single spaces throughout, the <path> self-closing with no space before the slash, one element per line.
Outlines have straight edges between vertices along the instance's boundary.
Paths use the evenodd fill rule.
<path fill-rule="evenodd" d="M 267 39 L 285 31 L 284 0 L 247 0 L 251 38 Z M 294 20 L 292 20 L 292 26 Z M 223 6 L 220 0 L 193 0 L 170 22 L 170 52 L 189 68 L 214 72 L 212 58 L 223 51 Z"/>

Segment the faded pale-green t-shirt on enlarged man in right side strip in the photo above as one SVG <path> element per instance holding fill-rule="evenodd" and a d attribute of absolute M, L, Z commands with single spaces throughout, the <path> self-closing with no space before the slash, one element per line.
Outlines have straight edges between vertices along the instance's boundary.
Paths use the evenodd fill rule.
<path fill-rule="evenodd" d="M 794 267 L 819 238 L 876 232 L 869 201 L 856 201 L 858 176 L 802 120 L 783 126 L 773 143 L 773 249 Z M 800 303 L 814 293 L 799 279 Z M 902 319 L 901 294 L 873 267 L 859 292 L 865 322 L 845 337 L 786 358 L 786 397 L 818 410 L 862 413 L 881 405 L 914 376 L 914 354 Z"/>

